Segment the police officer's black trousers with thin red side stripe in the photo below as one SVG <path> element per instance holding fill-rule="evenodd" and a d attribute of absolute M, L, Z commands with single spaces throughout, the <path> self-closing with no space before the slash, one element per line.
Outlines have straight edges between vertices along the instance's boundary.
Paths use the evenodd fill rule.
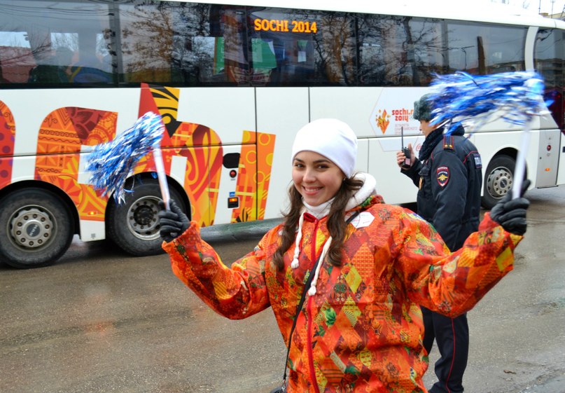
<path fill-rule="evenodd" d="M 438 344 L 440 359 L 435 362 L 435 382 L 430 393 L 463 392 L 463 373 L 469 354 L 469 326 L 467 315 L 450 318 L 421 308 L 424 316 L 424 348 L 431 351 L 433 340 Z"/>

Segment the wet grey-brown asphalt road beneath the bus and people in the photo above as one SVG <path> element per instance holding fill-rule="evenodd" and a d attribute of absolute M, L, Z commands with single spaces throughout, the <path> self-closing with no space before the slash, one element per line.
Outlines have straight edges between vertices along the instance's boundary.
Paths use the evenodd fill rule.
<path fill-rule="evenodd" d="M 468 313 L 468 393 L 565 392 L 565 187 L 529 196 L 515 270 Z M 204 237 L 229 264 L 272 224 Z M 0 264 L 0 315 L 1 393 L 267 393 L 286 355 L 270 310 L 220 317 L 167 256 L 109 242 L 76 240 L 47 268 Z"/>

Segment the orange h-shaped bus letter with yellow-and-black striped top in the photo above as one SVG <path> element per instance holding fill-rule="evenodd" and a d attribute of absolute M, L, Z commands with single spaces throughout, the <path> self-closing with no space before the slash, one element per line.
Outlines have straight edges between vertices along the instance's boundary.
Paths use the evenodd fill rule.
<path fill-rule="evenodd" d="M 214 223 L 218 189 L 222 170 L 223 148 L 221 139 L 214 130 L 195 123 L 176 120 L 179 109 L 179 89 L 149 86 L 141 83 L 139 116 L 147 111 L 159 113 L 167 128 L 161 146 L 165 170 L 170 173 L 172 156 L 186 157 L 186 173 L 183 187 L 186 190 L 192 219 L 200 226 Z M 173 149 L 166 149 L 173 146 Z M 153 168 L 153 158 L 147 158 L 146 165 Z M 140 172 L 148 170 L 143 163 Z M 153 170 L 153 169 L 151 169 Z"/>

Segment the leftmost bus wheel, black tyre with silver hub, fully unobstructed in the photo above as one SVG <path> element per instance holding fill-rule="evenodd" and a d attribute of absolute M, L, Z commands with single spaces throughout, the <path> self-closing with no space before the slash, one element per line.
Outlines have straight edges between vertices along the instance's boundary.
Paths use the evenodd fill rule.
<path fill-rule="evenodd" d="M 0 260 L 10 266 L 50 265 L 67 251 L 73 235 L 69 208 L 50 191 L 28 188 L 0 200 Z"/>

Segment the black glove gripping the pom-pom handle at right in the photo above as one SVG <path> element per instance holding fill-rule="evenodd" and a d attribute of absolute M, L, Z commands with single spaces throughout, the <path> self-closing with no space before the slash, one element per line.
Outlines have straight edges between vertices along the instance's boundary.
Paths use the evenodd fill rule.
<path fill-rule="evenodd" d="M 512 199 L 512 192 L 508 191 L 505 197 L 491 209 L 491 219 L 501 224 L 507 232 L 515 235 L 526 233 L 526 209 L 530 201 L 524 198 L 524 193 L 530 183 L 529 179 L 524 180 L 519 198 Z"/>

